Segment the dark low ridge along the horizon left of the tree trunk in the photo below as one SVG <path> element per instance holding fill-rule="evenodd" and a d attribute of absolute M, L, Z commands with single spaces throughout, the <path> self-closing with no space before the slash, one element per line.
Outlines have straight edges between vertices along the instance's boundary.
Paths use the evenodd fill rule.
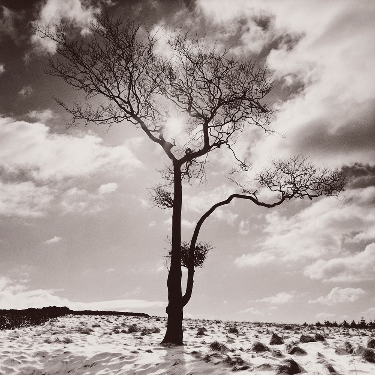
<path fill-rule="evenodd" d="M 149 317 L 148 314 L 139 312 L 122 311 L 73 311 L 68 307 L 49 306 L 43 308 L 27 308 L 25 310 L 0 310 L 0 330 L 23 328 L 40 325 L 53 319 L 66 315 L 115 315 Z"/>

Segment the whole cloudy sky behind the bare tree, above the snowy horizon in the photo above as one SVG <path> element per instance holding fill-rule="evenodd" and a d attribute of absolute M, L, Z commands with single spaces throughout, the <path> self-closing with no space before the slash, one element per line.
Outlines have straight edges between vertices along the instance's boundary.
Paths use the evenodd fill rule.
<path fill-rule="evenodd" d="M 375 319 L 372 0 L 1 0 L 0 309 L 166 316 L 171 211 L 152 207 L 147 190 L 161 181 L 166 155 L 128 123 L 68 128 L 52 96 L 84 98 L 44 72 L 53 45 L 29 26 L 63 18 L 84 37 L 101 10 L 161 34 L 197 29 L 207 43 L 268 66 L 277 134 L 249 125 L 236 144 L 254 172 L 272 157 L 303 154 L 348 177 L 339 198 L 270 210 L 237 201 L 216 211 L 201 230 L 214 249 L 195 273 L 185 317 Z M 183 239 L 211 205 L 237 191 L 225 178 L 231 167 L 216 150 L 207 183 L 183 187 Z"/>

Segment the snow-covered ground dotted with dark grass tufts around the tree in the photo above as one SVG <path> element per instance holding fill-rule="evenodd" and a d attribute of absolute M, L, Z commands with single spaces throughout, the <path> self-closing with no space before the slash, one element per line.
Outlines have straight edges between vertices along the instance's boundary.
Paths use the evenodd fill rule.
<path fill-rule="evenodd" d="M 375 374 L 375 350 L 364 349 L 371 331 L 188 319 L 185 346 L 163 347 L 165 325 L 156 317 L 72 315 L 0 331 L 0 374 Z M 284 343 L 270 345 L 273 333 Z M 324 341 L 300 342 L 308 340 L 302 335 Z M 305 353 L 291 354 L 295 347 Z"/>

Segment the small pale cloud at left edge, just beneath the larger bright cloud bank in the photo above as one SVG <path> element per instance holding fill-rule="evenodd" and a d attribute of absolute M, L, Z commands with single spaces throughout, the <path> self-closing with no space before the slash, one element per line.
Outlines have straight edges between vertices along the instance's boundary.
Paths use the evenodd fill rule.
<path fill-rule="evenodd" d="M 0 181 L 0 215 L 41 217 L 54 199 L 55 190 L 48 186 Z"/>

